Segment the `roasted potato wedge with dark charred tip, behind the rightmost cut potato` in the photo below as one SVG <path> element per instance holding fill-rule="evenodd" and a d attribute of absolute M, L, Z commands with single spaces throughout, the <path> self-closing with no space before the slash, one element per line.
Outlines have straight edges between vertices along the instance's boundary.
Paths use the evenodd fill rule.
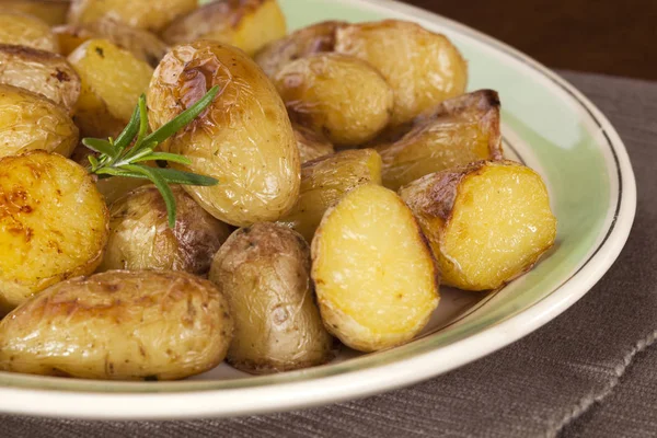
<path fill-rule="evenodd" d="M 401 140 L 376 149 L 383 159 L 383 185 L 393 191 L 429 173 L 502 160 L 499 97 L 481 90 L 445 101 Z"/>

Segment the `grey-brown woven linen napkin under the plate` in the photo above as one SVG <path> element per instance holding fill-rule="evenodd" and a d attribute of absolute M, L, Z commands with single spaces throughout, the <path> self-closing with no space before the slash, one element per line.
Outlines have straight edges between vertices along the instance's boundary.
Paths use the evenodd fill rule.
<path fill-rule="evenodd" d="M 366 400 L 194 422 L 91 423 L 0 416 L 0 437 L 553 437 L 657 430 L 657 83 L 564 73 L 630 150 L 638 214 L 619 262 L 562 316 L 470 366 Z M 644 351 L 644 353 L 641 353 Z M 639 360 L 641 359 L 641 360 Z M 644 382 L 649 384 L 644 388 Z M 619 408 L 618 406 L 623 406 Z"/>

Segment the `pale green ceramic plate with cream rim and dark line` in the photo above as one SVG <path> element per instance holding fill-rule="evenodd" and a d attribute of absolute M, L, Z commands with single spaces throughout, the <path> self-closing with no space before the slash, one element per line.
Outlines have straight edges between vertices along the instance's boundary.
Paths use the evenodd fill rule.
<path fill-rule="evenodd" d="M 525 55 L 471 28 L 383 0 L 281 0 L 291 28 L 323 20 L 418 22 L 447 34 L 470 62 L 470 89 L 497 90 L 507 155 L 539 171 L 558 218 L 555 247 L 497 292 L 443 290 L 416 341 L 326 366 L 250 377 L 228 366 L 182 382 L 115 383 L 0 373 L 0 411 L 87 418 L 182 418 L 292 410 L 408 385 L 529 334 L 584 296 L 623 247 L 636 208 L 632 166 L 607 118 Z"/>

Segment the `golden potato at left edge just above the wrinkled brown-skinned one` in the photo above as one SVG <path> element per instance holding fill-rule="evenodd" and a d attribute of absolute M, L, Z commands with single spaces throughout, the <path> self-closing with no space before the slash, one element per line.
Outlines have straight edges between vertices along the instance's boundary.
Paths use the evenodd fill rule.
<path fill-rule="evenodd" d="M 36 16 L 0 12 L 0 44 L 32 47 L 39 50 L 58 53 L 57 37 L 47 23 Z"/>

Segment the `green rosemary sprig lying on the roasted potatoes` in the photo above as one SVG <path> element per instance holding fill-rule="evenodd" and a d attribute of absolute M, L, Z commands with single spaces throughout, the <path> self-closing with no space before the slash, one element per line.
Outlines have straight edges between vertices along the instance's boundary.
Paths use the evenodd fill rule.
<path fill-rule="evenodd" d="M 130 122 L 116 139 L 82 139 L 82 145 L 99 153 L 99 157 L 89 157 L 89 163 L 91 164 L 89 172 L 97 175 L 100 178 L 127 176 L 149 180 L 162 194 L 164 204 L 166 205 L 169 226 L 173 228 L 175 226 L 176 206 L 175 197 L 171 192 L 170 184 L 210 186 L 216 185 L 218 181 L 214 177 L 197 175 L 195 173 L 160 166 L 151 168 L 141 163 L 147 161 L 158 161 L 159 163 L 173 162 L 191 164 L 189 159 L 186 157 L 169 152 L 159 152 L 155 151 L 155 148 L 192 123 L 210 103 L 212 103 L 218 92 L 219 88 L 214 87 L 194 105 L 160 127 L 160 129 L 150 134 L 148 134 L 146 96 L 142 94 L 139 97 L 139 104 L 132 112 Z M 130 145 L 132 146 L 130 147 Z"/>

